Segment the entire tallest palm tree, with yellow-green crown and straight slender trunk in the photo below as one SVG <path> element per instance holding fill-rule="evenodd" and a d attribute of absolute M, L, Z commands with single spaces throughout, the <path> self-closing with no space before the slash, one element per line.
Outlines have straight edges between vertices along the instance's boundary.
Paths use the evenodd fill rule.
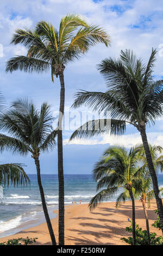
<path fill-rule="evenodd" d="M 87 25 L 76 14 L 62 17 L 59 31 L 51 23 L 41 21 L 34 29 L 18 29 L 11 44 L 22 44 L 27 56 L 17 56 L 7 62 L 6 71 L 45 72 L 51 70 L 60 79 L 60 107 L 58 118 L 58 179 L 59 179 L 59 245 L 64 245 L 64 167 L 62 153 L 62 118 L 65 105 L 64 70 L 68 62 L 77 60 L 91 46 L 104 43 L 108 46 L 109 35 L 103 29 Z"/>

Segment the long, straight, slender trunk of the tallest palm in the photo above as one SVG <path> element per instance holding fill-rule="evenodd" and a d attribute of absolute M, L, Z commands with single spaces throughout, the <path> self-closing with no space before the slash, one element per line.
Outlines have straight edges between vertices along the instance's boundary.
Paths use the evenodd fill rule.
<path fill-rule="evenodd" d="M 59 74 L 60 78 L 60 108 L 58 118 L 58 182 L 59 182 L 59 245 L 65 244 L 65 208 L 64 208 L 64 164 L 63 164 L 63 145 L 62 145 L 62 118 L 65 107 L 65 83 L 64 74 Z"/>

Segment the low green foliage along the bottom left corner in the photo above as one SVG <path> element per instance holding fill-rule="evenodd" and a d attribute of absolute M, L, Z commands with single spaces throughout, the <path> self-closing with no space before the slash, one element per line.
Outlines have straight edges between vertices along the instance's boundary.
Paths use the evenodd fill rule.
<path fill-rule="evenodd" d="M 8 241 L 0 243 L 0 245 L 32 245 L 32 243 L 36 242 L 37 237 L 26 238 L 18 237 L 16 239 L 9 239 Z"/>

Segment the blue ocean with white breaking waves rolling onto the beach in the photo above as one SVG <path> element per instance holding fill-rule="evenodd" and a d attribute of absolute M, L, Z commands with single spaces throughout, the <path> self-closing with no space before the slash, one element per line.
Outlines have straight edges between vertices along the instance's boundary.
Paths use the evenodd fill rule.
<path fill-rule="evenodd" d="M 0 203 L 0 237 L 17 233 L 26 228 L 45 222 L 43 215 L 39 187 L 35 174 L 29 174 L 30 187 L 5 187 L 3 200 Z M 58 176 L 42 174 L 42 185 L 45 192 L 49 216 L 55 218 L 53 213 L 58 209 Z M 163 185 L 163 174 L 158 175 L 159 186 Z M 65 205 L 89 203 L 96 194 L 96 182 L 92 175 L 65 175 Z M 115 202 L 118 194 L 109 202 Z"/>

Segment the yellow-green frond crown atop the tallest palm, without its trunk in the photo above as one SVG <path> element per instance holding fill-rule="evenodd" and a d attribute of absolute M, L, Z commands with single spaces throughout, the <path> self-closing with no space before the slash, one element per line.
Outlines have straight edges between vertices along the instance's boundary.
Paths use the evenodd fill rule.
<path fill-rule="evenodd" d="M 103 29 L 88 25 L 79 15 L 62 17 L 59 30 L 51 23 L 40 21 L 34 29 L 17 29 L 12 36 L 11 44 L 22 44 L 27 48 L 27 56 L 11 58 L 6 71 L 40 73 L 51 70 L 54 81 L 59 69 L 64 69 L 64 65 L 78 59 L 98 42 L 108 46 L 110 37 Z"/>

